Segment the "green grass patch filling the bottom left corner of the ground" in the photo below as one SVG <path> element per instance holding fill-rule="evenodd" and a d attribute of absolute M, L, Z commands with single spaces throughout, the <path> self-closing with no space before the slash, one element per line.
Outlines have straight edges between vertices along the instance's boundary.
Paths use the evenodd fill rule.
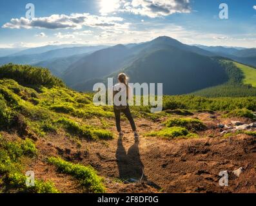
<path fill-rule="evenodd" d="M 32 140 L 9 142 L 0 135 L 0 192 L 30 192 L 56 193 L 52 182 L 43 182 L 35 179 L 34 186 L 26 185 L 26 176 L 21 164 L 21 158 L 34 157 L 37 149 Z"/>

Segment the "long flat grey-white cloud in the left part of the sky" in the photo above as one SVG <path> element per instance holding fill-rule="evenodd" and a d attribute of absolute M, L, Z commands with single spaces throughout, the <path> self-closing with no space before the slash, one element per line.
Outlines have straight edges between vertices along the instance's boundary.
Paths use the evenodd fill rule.
<path fill-rule="evenodd" d="M 72 28 L 81 29 L 83 26 L 90 26 L 94 28 L 110 28 L 123 27 L 120 22 L 124 19 L 121 17 L 103 17 L 97 15 L 84 14 L 54 14 L 49 17 L 39 17 L 34 19 L 11 19 L 10 23 L 4 24 L 3 28 L 47 28 L 47 29 L 61 29 Z"/>

